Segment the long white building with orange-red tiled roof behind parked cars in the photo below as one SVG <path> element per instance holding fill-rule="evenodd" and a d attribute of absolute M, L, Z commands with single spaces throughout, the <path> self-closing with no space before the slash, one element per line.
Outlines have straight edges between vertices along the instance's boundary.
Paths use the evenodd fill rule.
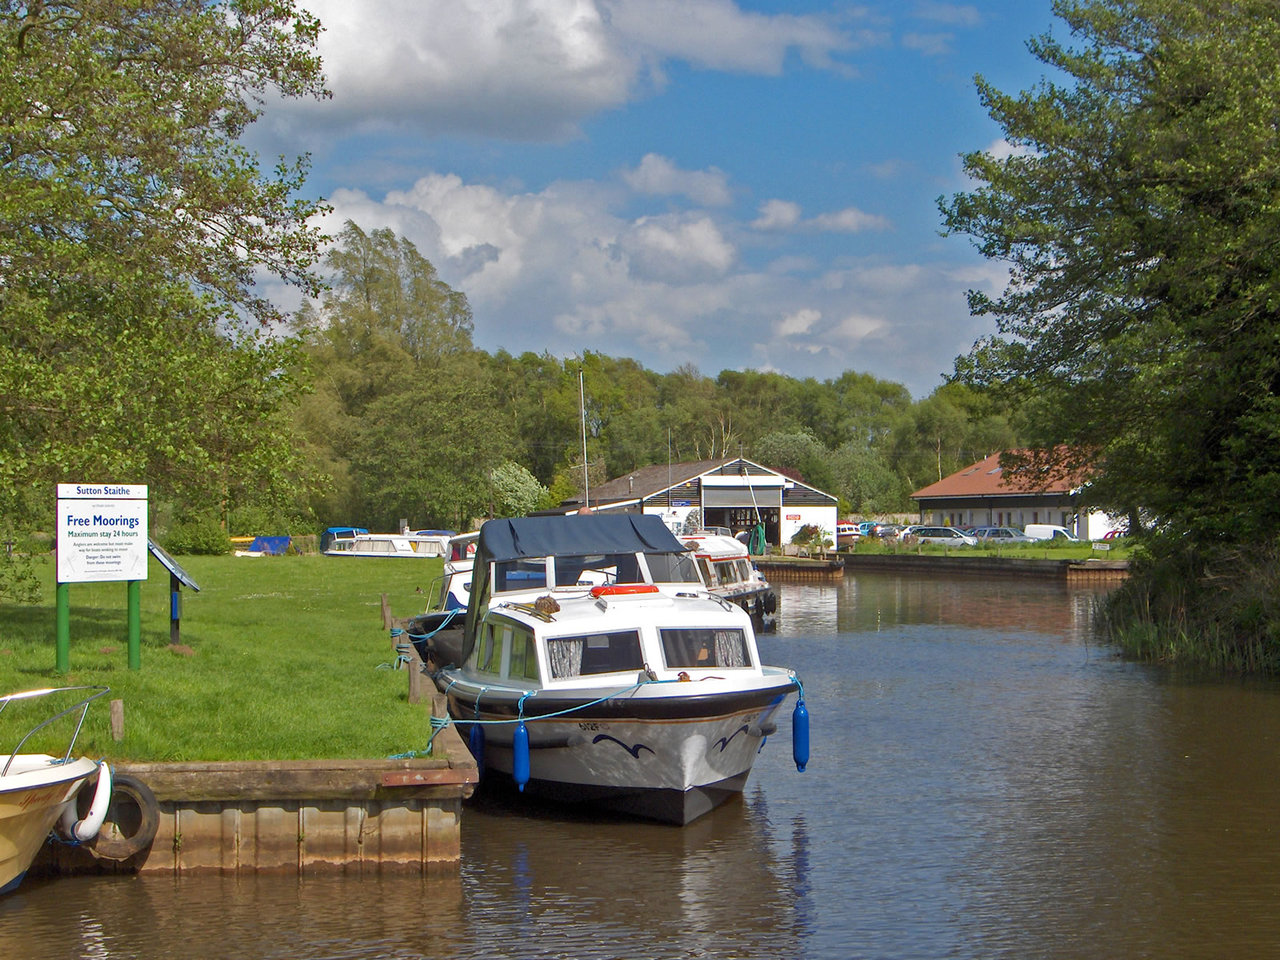
<path fill-rule="evenodd" d="M 911 494 L 922 524 L 1012 526 L 1053 524 L 1082 540 L 1100 540 L 1121 524 L 1083 504 L 1087 477 L 1027 468 L 1006 471 L 1001 454 L 972 463 Z"/>

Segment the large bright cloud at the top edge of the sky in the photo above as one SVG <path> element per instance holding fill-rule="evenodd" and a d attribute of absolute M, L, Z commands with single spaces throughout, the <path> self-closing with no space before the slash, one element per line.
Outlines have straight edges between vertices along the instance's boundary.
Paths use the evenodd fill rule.
<path fill-rule="evenodd" d="M 842 69 L 858 41 L 818 15 L 731 0 L 302 0 L 325 31 L 324 104 L 271 105 L 262 133 L 415 131 L 562 141 L 664 83 L 664 65 L 777 74 L 795 52 Z"/>

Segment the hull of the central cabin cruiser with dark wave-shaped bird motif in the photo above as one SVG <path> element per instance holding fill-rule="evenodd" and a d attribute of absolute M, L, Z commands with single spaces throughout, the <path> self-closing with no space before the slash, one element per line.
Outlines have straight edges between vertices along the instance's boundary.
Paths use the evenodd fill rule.
<path fill-rule="evenodd" d="M 658 685 L 664 690 L 684 684 Z M 686 824 L 742 792 L 764 739 L 795 685 L 754 690 L 626 696 L 596 701 L 541 691 L 524 708 L 529 732 L 526 790 L 559 803 L 590 804 L 664 823 Z M 483 763 L 511 777 L 516 703 L 456 687 L 449 709 L 470 740 L 467 721 L 488 721 Z M 479 705 L 479 712 L 477 712 Z M 571 710 L 567 716 L 548 714 Z"/>

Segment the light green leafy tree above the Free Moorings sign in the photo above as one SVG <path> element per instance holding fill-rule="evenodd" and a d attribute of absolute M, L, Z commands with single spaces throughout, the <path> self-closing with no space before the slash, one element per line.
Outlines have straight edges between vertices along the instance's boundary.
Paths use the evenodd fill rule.
<path fill-rule="evenodd" d="M 301 367 L 242 319 L 256 280 L 305 291 L 306 161 L 238 142 L 268 91 L 323 96 L 315 18 L 288 0 L 0 3 L 0 513 L 51 484 L 152 500 L 288 498 Z"/>

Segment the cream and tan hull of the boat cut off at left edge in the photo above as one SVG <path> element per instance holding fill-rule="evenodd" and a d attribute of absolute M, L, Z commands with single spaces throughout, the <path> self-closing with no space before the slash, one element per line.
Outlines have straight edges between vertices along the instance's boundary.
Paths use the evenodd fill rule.
<path fill-rule="evenodd" d="M 0 777 L 0 893 L 18 887 L 67 804 L 97 772 L 97 763 L 67 763 L 19 754 Z"/>

